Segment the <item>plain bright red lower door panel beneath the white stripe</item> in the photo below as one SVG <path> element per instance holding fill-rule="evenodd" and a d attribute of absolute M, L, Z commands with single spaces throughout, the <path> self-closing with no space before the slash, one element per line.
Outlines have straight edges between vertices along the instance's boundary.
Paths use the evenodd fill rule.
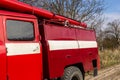
<path fill-rule="evenodd" d="M 7 73 L 10 80 L 42 80 L 42 54 L 7 57 Z"/>

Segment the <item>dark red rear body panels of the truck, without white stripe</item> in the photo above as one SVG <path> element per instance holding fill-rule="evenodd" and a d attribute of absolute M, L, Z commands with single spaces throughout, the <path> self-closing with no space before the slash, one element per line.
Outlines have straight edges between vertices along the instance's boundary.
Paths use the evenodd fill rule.
<path fill-rule="evenodd" d="M 43 31 L 43 30 L 41 30 Z M 45 32 L 45 33 L 44 33 Z M 84 30 L 77 28 L 67 28 L 59 25 L 45 24 L 44 26 L 45 43 L 49 43 L 49 40 L 53 41 L 96 41 L 95 33 L 93 30 Z M 50 44 L 46 44 L 49 45 Z M 61 44 L 64 45 L 64 44 Z M 71 46 L 71 45 L 69 45 Z M 79 45 L 81 46 L 81 45 Z M 91 55 L 90 55 L 91 53 Z M 82 63 L 85 72 L 93 70 L 92 60 L 98 61 L 98 48 L 76 48 L 76 49 L 64 49 L 53 50 L 48 49 L 48 52 L 44 53 L 48 56 L 48 72 L 49 77 L 62 76 L 64 68 L 68 65 Z M 70 55 L 70 57 L 66 57 Z M 98 61 L 98 66 L 99 66 Z"/>

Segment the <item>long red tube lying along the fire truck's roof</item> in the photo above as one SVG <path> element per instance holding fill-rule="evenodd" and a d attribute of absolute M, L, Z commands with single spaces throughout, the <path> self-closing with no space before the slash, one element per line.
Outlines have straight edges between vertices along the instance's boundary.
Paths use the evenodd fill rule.
<path fill-rule="evenodd" d="M 14 0 L 14 1 L 13 0 L 1 0 L 0 7 L 6 8 L 8 10 L 17 11 L 17 12 L 34 14 L 36 16 L 45 17 L 48 19 L 58 19 L 58 20 L 62 20 L 62 21 L 67 20 L 72 25 L 78 25 L 83 28 L 87 27 L 87 25 L 85 23 L 78 22 L 78 21 L 75 21 L 75 20 L 60 16 L 60 15 L 55 15 L 54 13 L 52 13 L 50 11 L 47 11 L 47 10 L 44 10 L 41 8 L 37 8 L 37 7 L 33 7 L 28 4 L 19 2 L 17 0 Z"/>

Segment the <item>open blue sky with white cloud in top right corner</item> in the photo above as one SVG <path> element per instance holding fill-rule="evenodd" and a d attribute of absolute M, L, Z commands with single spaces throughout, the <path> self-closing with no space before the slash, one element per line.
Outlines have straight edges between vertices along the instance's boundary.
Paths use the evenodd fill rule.
<path fill-rule="evenodd" d="M 106 22 L 120 19 L 120 0 L 105 0 L 104 16 Z"/>

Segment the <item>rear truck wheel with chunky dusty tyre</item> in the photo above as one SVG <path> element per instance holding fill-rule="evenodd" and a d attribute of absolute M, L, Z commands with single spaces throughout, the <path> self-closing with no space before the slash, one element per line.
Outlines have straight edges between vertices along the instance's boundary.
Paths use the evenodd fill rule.
<path fill-rule="evenodd" d="M 83 80 L 83 75 L 79 68 L 71 66 L 64 70 L 61 80 Z"/>

